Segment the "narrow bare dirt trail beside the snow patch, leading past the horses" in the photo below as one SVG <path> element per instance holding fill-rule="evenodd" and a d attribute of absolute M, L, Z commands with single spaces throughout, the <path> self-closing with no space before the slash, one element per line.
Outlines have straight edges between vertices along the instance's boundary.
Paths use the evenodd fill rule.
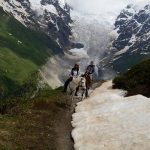
<path fill-rule="evenodd" d="M 94 83 L 92 86 L 92 90 L 96 87 L 100 86 L 100 83 Z M 73 148 L 73 140 L 71 137 L 71 120 L 72 114 L 74 113 L 74 109 L 76 104 L 80 101 L 80 98 L 74 98 L 71 102 L 69 97 L 67 100 L 67 104 L 69 103 L 66 109 L 63 109 L 62 112 L 59 112 L 57 116 L 57 120 L 55 122 L 55 130 L 56 130 L 56 143 L 57 143 L 57 150 L 74 150 Z"/>

